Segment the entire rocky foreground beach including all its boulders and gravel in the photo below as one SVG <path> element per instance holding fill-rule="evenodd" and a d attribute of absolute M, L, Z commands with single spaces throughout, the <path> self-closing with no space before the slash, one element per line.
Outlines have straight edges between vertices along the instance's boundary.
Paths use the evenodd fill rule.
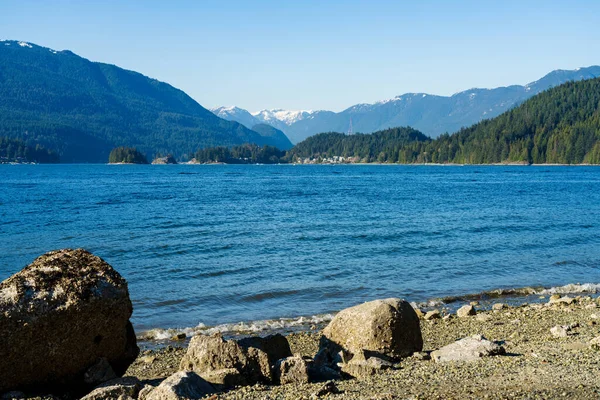
<path fill-rule="evenodd" d="M 66 261 L 88 274 L 82 284 L 74 281 L 81 277 L 70 275 Z M 66 278 L 65 271 L 70 271 Z M 66 284 L 79 291 L 63 293 L 69 293 Z M 0 360 L 0 384 L 8 391 L 0 398 L 600 398 L 600 299 L 553 295 L 541 301 L 496 303 L 490 309 L 472 302 L 450 313 L 413 309 L 400 299 L 376 300 L 342 310 L 320 331 L 237 341 L 198 335 L 188 345 L 174 341 L 134 357 L 124 280 L 82 250 L 53 252 L 0 285 L 0 329 L 13 324 L 0 343 L 11 363 Z M 123 311 L 114 318 L 106 314 L 108 324 L 90 316 L 93 307 L 109 313 L 115 305 Z M 66 319 L 53 322 L 65 310 Z M 44 319 L 47 314 L 52 318 Z M 27 315 L 35 318 L 24 321 Z M 113 333 L 106 331 L 114 325 L 110 318 L 119 321 Z M 19 333 L 36 323 L 37 336 Z M 77 329 L 81 326 L 85 329 Z M 86 346 L 100 330 L 113 335 L 109 344 L 116 340 L 117 346 Z M 76 352 L 69 353 L 72 349 Z M 68 360 L 68 373 L 54 359 Z"/>

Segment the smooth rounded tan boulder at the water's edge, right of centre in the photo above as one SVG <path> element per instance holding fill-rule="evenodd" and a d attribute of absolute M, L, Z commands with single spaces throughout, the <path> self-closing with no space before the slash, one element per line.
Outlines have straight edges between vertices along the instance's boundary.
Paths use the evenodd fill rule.
<path fill-rule="evenodd" d="M 352 358 L 396 360 L 423 349 L 419 317 L 401 299 L 374 300 L 340 311 L 323 330 L 320 353 Z M 339 358 L 339 357 L 338 357 Z"/>

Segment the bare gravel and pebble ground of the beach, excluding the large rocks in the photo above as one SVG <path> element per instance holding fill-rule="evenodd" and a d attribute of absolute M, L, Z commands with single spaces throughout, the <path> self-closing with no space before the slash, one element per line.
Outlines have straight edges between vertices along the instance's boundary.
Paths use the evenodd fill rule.
<path fill-rule="evenodd" d="M 565 301 L 521 304 L 483 310 L 457 317 L 442 312 L 443 318 L 421 319 L 424 353 L 457 339 L 481 334 L 501 343 L 505 355 L 475 361 L 436 363 L 427 357 L 404 358 L 393 368 L 335 381 L 339 399 L 597 399 L 598 348 L 591 341 L 600 334 L 600 299 L 565 297 Z M 568 300 L 568 301 L 567 301 Z M 464 303 L 463 303 L 464 304 Z M 469 304 L 469 303 L 467 303 Z M 569 334 L 557 337 L 554 326 L 570 326 Z M 313 357 L 319 347 L 320 331 L 287 335 L 292 353 Z M 153 386 L 179 368 L 186 347 L 168 346 L 142 351 L 126 375 Z M 255 385 L 219 393 L 218 399 L 309 399 L 322 383 Z"/>

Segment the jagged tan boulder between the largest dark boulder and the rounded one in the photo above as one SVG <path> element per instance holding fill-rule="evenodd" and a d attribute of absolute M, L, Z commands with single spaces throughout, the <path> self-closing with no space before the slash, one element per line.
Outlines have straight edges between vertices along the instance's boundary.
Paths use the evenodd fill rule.
<path fill-rule="evenodd" d="M 194 371 L 208 382 L 225 387 L 273 380 L 267 353 L 254 347 L 244 348 L 219 334 L 194 336 L 180 369 Z"/>

